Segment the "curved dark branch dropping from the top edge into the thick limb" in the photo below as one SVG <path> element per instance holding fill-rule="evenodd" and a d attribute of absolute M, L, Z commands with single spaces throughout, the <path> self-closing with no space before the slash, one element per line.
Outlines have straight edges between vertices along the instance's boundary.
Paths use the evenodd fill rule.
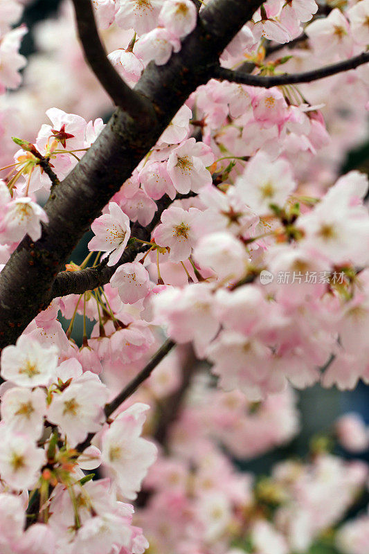
<path fill-rule="evenodd" d="M 143 123 L 142 118 L 145 115 L 147 125 L 151 125 L 155 118 L 152 105 L 125 83 L 107 58 L 96 27 L 91 0 L 72 1 L 84 57 L 100 84 L 116 106 L 124 109 L 134 119 L 139 117 L 141 123 Z"/>

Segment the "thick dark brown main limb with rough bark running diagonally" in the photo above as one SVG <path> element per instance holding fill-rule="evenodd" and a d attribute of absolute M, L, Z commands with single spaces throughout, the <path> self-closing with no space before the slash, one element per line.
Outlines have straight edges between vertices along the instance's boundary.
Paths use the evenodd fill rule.
<path fill-rule="evenodd" d="M 46 203 L 42 238 L 24 238 L 0 274 L 0 348 L 14 343 L 47 307 L 57 273 L 134 168 L 159 139 L 190 93 L 208 81 L 228 42 L 251 19 L 260 0 L 213 0 L 197 28 L 168 64 L 149 64 L 135 87 L 149 101 L 156 123 L 139 125 L 116 109 L 78 166 L 53 188 Z"/>

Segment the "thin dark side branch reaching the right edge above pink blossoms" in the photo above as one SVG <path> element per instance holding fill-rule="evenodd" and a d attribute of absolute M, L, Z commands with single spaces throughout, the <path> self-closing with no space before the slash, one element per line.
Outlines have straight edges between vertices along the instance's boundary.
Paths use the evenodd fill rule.
<path fill-rule="evenodd" d="M 283 73 L 283 75 L 249 75 L 242 73 L 241 71 L 233 71 L 217 65 L 213 76 L 219 80 L 226 80 L 229 82 L 238 82 L 240 84 L 249 84 L 252 87 L 263 87 L 264 89 L 270 89 L 271 87 L 278 87 L 282 84 L 297 84 L 300 82 L 312 82 L 336 73 L 343 71 L 349 71 L 355 69 L 359 65 L 369 62 L 369 52 L 359 54 L 358 56 L 351 57 L 350 60 L 345 60 L 337 64 L 327 65 L 313 71 L 305 71 L 305 73 Z"/>

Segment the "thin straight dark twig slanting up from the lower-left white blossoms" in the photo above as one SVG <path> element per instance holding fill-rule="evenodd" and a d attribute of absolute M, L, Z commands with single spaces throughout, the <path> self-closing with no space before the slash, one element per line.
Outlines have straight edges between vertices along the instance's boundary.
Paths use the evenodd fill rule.
<path fill-rule="evenodd" d="M 165 358 L 165 356 L 172 350 L 172 348 L 175 346 L 175 343 L 168 339 L 163 343 L 163 345 L 159 348 L 159 350 L 156 351 L 152 359 L 150 359 L 149 363 L 132 379 L 130 383 L 123 388 L 123 391 L 120 391 L 120 393 L 114 398 L 114 400 L 111 400 L 109 404 L 105 406 L 105 417 L 109 418 L 116 409 L 119 408 L 129 396 L 132 396 L 132 394 L 137 390 L 138 386 L 140 386 L 150 375 L 152 374 L 152 371 L 160 364 L 160 362 Z M 89 445 L 91 445 L 91 440 L 95 436 L 95 433 L 89 433 L 87 435 L 87 438 L 84 439 L 83 443 L 80 443 L 75 447 L 75 449 L 78 452 L 83 452 Z"/>

